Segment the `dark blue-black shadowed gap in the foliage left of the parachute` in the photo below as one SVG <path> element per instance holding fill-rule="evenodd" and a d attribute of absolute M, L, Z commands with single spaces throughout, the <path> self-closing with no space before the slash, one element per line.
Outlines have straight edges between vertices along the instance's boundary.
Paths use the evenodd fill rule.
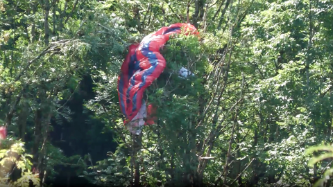
<path fill-rule="evenodd" d="M 93 112 L 88 111 L 83 105 L 86 100 L 95 97 L 93 92 L 93 81 L 89 75 L 84 75 L 80 82 L 80 90 L 73 94 L 70 100 L 60 100 L 60 105 L 69 107 L 72 114 L 71 121 L 62 119 L 61 124 L 56 119 L 51 120 L 53 132 L 51 132 L 51 142 L 60 148 L 66 157 L 80 155 L 84 157 L 90 154 L 92 161 L 105 159 L 106 153 L 114 152 L 117 143 L 113 141 L 112 132 L 103 132 L 103 123 L 93 119 Z M 88 164 L 88 163 L 87 163 Z M 94 186 L 83 178 L 78 177 L 73 166 L 56 166 L 58 175 L 53 180 L 49 179 L 46 184 L 52 186 Z"/>

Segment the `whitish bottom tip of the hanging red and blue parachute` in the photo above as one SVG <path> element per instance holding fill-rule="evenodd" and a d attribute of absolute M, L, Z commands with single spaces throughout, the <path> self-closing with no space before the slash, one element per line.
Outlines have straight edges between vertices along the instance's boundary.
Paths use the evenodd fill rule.
<path fill-rule="evenodd" d="M 146 109 L 146 102 L 142 102 L 141 108 L 139 109 L 139 112 L 137 112 L 137 115 L 126 125 L 126 128 L 130 131 L 130 133 L 137 135 L 141 133 L 142 126 L 144 126 L 144 118 L 147 117 Z"/>

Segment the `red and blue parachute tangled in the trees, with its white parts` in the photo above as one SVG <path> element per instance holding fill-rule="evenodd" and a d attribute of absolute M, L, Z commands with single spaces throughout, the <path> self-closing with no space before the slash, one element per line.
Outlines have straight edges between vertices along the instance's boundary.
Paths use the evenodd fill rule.
<path fill-rule="evenodd" d="M 128 48 L 121 73 L 118 79 L 118 94 L 121 112 L 125 115 L 124 122 L 133 134 L 141 132 L 143 125 L 153 125 L 155 107 L 146 105 L 143 94 L 163 72 L 167 62 L 160 53 L 160 48 L 168 42 L 171 35 L 198 35 L 198 30 L 191 24 L 172 24 L 162 27 L 142 39 L 139 44 L 132 44 Z M 184 74 L 185 68 L 180 70 Z M 148 113 L 148 114 L 147 114 Z M 146 122 L 144 118 L 147 118 Z"/>

